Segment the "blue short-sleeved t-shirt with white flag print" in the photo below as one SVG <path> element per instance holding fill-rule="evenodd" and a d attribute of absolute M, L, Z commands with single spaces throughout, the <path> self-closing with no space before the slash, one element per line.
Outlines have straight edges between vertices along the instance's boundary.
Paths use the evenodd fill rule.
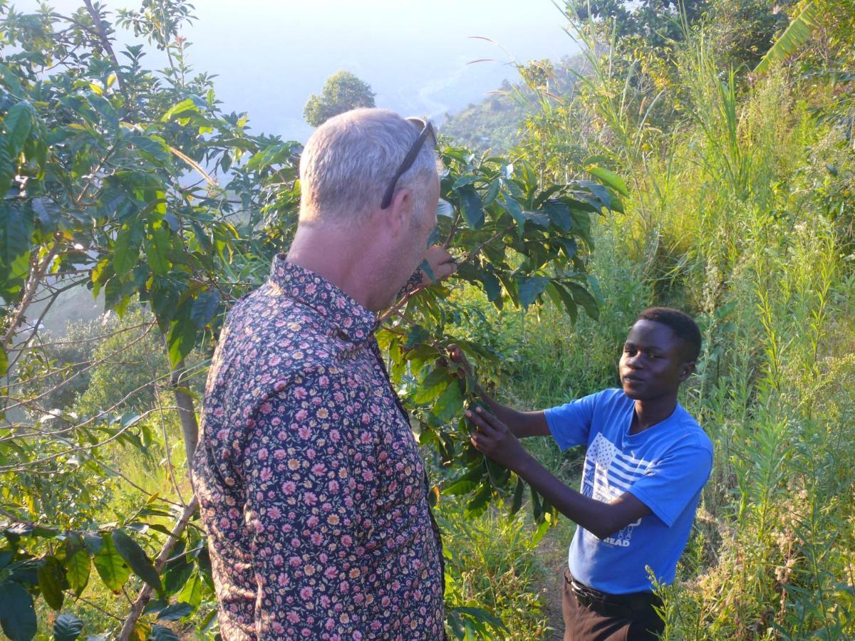
<path fill-rule="evenodd" d="M 630 434 L 635 402 L 604 390 L 545 411 L 565 450 L 587 444 L 581 492 L 610 503 L 630 492 L 652 514 L 602 541 L 577 527 L 570 544 L 574 578 L 611 594 L 652 590 L 646 566 L 671 583 L 712 468 L 712 443 L 679 404 L 657 425 Z"/>

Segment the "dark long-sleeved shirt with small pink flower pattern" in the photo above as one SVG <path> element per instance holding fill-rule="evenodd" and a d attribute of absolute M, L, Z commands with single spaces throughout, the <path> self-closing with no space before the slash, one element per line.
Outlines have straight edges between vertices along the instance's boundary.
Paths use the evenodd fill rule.
<path fill-rule="evenodd" d="M 439 532 L 377 318 L 274 259 L 211 363 L 194 485 L 223 638 L 443 638 Z"/>

